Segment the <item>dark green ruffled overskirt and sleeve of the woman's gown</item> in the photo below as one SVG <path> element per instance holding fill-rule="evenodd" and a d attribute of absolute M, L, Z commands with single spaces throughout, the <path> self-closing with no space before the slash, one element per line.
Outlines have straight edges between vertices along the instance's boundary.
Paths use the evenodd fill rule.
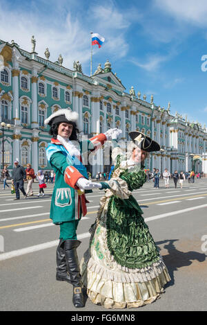
<path fill-rule="evenodd" d="M 132 173 L 125 170 L 119 177 L 127 182 L 130 191 L 146 182 L 144 170 Z M 159 248 L 142 213 L 132 195 L 128 200 L 121 200 L 115 195 L 110 197 L 106 221 L 108 249 L 117 263 L 130 269 L 148 267 L 160 258 Z"/>

